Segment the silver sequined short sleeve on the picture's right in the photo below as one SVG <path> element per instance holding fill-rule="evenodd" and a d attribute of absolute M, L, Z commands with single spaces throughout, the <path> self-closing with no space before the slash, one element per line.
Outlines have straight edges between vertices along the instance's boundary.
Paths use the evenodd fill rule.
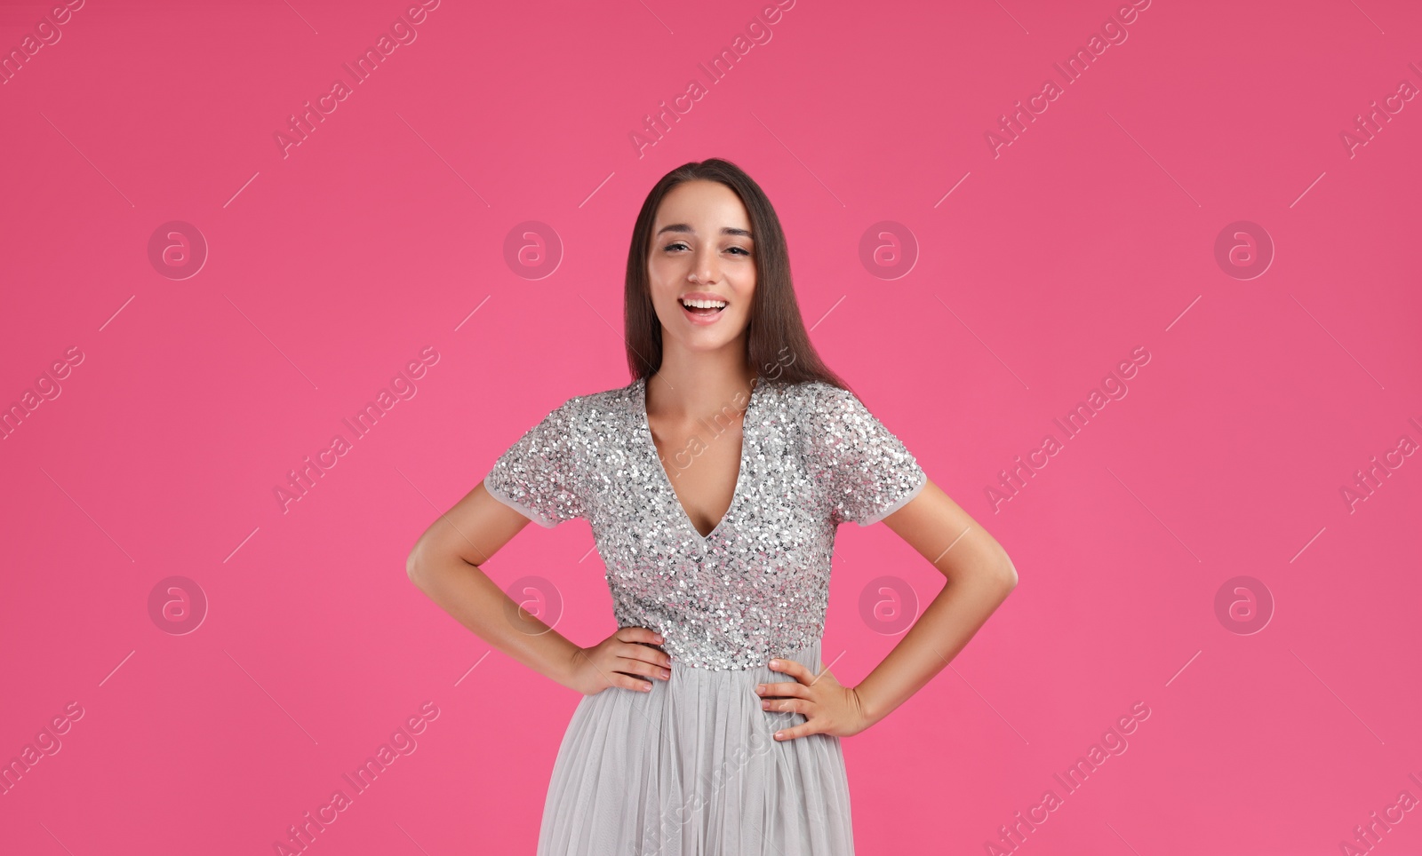
<path fill-rule="evenodd" d="M 929 476 L 853 392 L 830 384 L 816 387 L 805 437 L 811 478 L 835 526 L 846 520 L 877 523 L 917 496 Z"/>

